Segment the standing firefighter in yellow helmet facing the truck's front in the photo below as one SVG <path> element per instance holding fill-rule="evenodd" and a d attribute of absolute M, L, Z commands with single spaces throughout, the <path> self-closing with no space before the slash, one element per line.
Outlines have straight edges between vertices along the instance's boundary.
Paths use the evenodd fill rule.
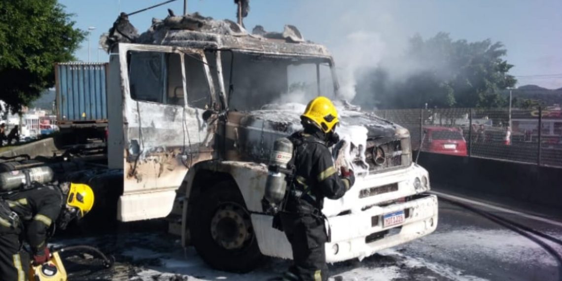
<path fill-rule="evenodd" d="M 327 218 L 321 210 L 324 197 L 338 199 L 355 182 L 353 171 L 334 167 L 329 148 L 339 141 L 336 107 L 317 97 L 301 115 L 303 130 L 278 139 L 271 154 L 265 196 L 266 212 L 273 226 L 285 232 L 293 250 L 293 265 L 277 280 L 328 279 L 325 242 L 329 242 Z"/>

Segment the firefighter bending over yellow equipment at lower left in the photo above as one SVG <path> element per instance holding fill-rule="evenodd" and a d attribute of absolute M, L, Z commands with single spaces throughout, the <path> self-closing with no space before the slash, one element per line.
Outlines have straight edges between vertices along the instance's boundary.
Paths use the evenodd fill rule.
<path fill-rule="evenodd" d="M 11 211 L 6 217 L 6 208 L 0 206 L 4 210 L 0 212 L 0 280 L 24 281 L 28 280 L 31 261 L 22 251 L 22 242 L 29 244 L 33 264 L 44 264 L 50 257 L 47 238 L 55 224 L 64 229 L 71 220 L 87 214 L 92 209 L 94 194 L 88 185 L 66 183 L 40 185 L 0 201 Z"/>

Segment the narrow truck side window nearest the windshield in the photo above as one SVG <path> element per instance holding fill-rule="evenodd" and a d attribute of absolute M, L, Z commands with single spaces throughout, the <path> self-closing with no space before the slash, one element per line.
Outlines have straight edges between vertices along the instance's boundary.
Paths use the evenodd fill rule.
<path fill-rule="evenodd" d="M 209 81 L 205 75 L 205 68 L 201 56 L 185 54 L 185 84 L 187 85 L 187 105 L 193 108 L 206 109 L 211 105 Z"/>

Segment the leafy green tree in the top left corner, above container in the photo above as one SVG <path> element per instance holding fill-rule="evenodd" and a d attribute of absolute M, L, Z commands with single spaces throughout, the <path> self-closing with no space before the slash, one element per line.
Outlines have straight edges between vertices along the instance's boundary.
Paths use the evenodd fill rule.
<path fill-rule="evenodd" d="M 55 62 L 75 60 L 85 33 L 57 0 L 0 1 L 0 99 L 12 112 L 55 85 Z"/>

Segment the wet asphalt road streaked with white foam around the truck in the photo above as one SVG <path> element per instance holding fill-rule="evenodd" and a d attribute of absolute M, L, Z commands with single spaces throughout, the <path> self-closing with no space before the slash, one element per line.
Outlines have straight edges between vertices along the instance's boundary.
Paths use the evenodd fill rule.
<path fill-rule="evenodd" d="M 556 215 L 539 215 L 548 218 L 537 219 L 525 215 L 527 212 L 513 214 L 513 210 L 519 210 L 513 206 L 491 209 L 473 202 L 468 205 L 562 239 L 562 218 Z M 282 274 L 289 265 L 289 261 L 269 259 L 265 266 L 248 274 L 216 271 L 193 248 L 184 250 L 177 238 L 147 229 L 159 226 L 159 222 L 128 225 L 119 229 L 119 235 L 60 238 L 54 242 L 90 244 L 116 257 L 116 265 L 110 270 L 102 269 L 90 256 L 85 256 L 86 265 L 81 259 L 84 256 L 70 257 L 66 262 L 70 280 L 266 280 Z M 562 255 L 562 246 L 546 244 L 554 248 L 556 255 Z M 560 262 L 532 239 L 440 200 L 438 228 L 433 234 L 362 261 L 331 265 L 330 271 L 333 277 L 343 280 L 549 281 L 562 279 Z"/>

